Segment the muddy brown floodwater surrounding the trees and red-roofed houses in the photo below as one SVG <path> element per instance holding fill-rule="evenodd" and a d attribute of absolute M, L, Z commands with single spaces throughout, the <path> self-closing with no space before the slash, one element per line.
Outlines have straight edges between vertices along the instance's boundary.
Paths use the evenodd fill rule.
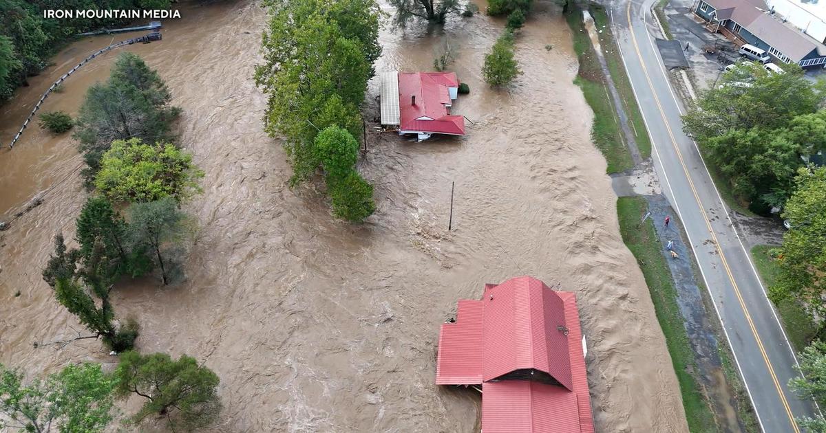
<path fill-rule="evenodd" d="M 480 73 L 501 21 L 382 31 L 377 71 L 429 70 L 434 47 L 450 40 L 452 68 L 471 88 L 454 112 L 474 125 L 467 137 L 423 144 L 369 134 L 358 168 L 376 186 L 377 211 L 353 226 L 330 217 L 315 184 L 287 186 L 280 143 L 263 133 L 265 98 L 251 79 L 263 10 L 243 0 L 178 4 L 183 19 L 164 22 L 162 42 L 126 49 L 169 84 L 183 108 L 180 144 L 207 172 L 203 195 L 186 206 L 199 227 L 188 280 L 171 288 L 127 281 L 115 301 L 121 317 L 140 322 L 141 351 L 186 353 L 221 377 L 225 409 L 215 431 L 478 431 L 478 393 L 434 384 L 439 324 L 458 299 L 515 275 L 577 292 L 599 431 L 687 431 L 648 289 L 619 238 L 558 14 L 540 7 L 525 26 L 517 43 L 525 73 L 507 91 L 489 89 Z M 3 143 L 39 92 L 111 39 L 70 45 L 2 107 Z M 45 110 L 76 113 L 115 55 L 81 68 Z M 373 81 L 368 120 L 376 95 Z M 86 195 L 80 164 L 69 137 L 34 128 L 0 152 L 0 214 L 32 195 L 45 199 L 0 234 L 0 362 L 28 374 L 114 362 L 97 341 L 32 346 L 82 332 L 40 278 L 52 236 L 74 235 Z"/>

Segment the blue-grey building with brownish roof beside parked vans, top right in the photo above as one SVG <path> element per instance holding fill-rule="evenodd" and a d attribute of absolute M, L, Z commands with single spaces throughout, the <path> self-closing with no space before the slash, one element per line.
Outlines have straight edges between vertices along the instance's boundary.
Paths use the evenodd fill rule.
<path fill-rule="evenodd" d="M 768 13 L 762 0 L 700 0 L 696 16 L 705 28 L 720 32 L 738 45 L 765 49 L 772 58 L 802 68 L 826 65 L 826 45 Z"/>

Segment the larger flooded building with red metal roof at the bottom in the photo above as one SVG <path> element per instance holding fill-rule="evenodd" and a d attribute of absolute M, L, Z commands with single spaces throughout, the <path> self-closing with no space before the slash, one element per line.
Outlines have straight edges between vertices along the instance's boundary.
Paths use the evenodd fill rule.
<path fill-rule="evenodd" d="M 483 433 L 592 433 L 585 353 L 576 296 L 520 276 L 458 302 L 436 384 L 482 386 Z"/>

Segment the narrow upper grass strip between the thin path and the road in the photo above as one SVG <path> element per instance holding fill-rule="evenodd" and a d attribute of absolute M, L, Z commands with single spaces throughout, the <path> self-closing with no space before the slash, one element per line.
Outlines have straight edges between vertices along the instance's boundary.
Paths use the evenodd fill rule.
<path fill-rule="evenodd" d="M 651 157 L 651 139 L 648 138 L 648 130 L 645 128 L 643 115 L 639 111 L 637 104 L 637 97 L 634 95 L 634 88 L 631 87 L 631 82 L 628 78 L 628 73 L 625 72 L 625 65 L 622 57 L 619 54 L 619 47 L 616 45 L 614 34 L 611 32 L 611 26 L 608 22 L 608 12 L 605 12 L 605 7 L 593 5 L 591 7 L 591 15 L 594 16 L 594 23 L 600 33 L 600 45 L 602 45 L 603 55 L 605 56 L 605 63 L 608 64 L 608 73 L 614 79 L 614 86 L 619 92 L 619 97 L 623 101 L 625 114 L 631 122 L 631 132 L 634 133 L 634 141 L 637 143 L 640 156 L 643 159 Z"/>

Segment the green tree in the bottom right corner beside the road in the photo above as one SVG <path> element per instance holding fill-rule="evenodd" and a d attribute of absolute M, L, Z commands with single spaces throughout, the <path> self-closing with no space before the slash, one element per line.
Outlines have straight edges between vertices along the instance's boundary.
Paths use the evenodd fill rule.
<path fill-rule="evenodd" d="M 826 404 L 826 343 L 812 341 L 800 352 L 798 362 L 800 365 L 795 368 L 800 372 L 800 376 L 789 381 L 790 388 L 801 399 L 811 398 L 823 407 Z M 826 427 L 826 419 L 822 415 L 798 421 L 808 431 L 824 431 Z"/>

